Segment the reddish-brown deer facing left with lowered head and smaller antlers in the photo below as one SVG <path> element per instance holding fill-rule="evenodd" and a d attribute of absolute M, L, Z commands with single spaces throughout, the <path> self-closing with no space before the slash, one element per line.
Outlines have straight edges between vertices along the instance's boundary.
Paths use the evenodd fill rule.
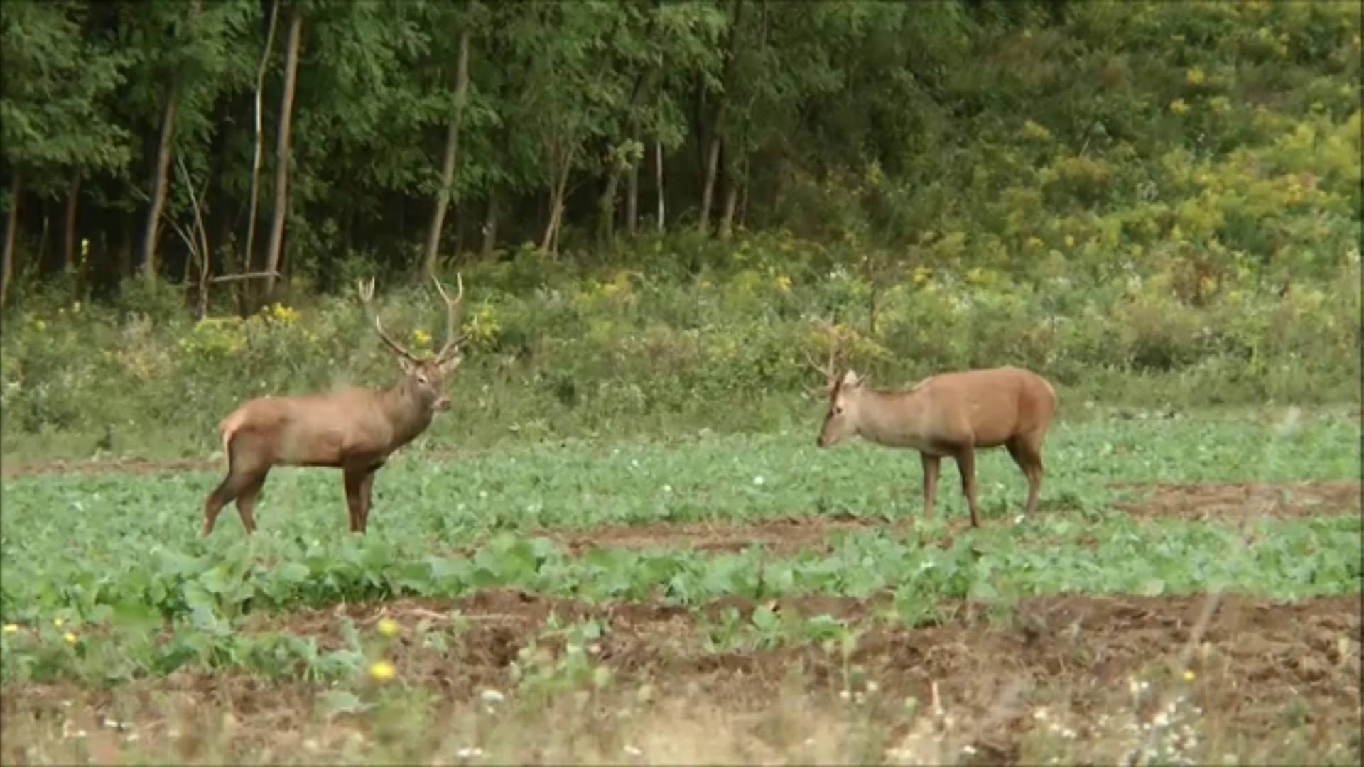
<path fill-rule="evenodd" d="M 913 448 L 923 465 L 923 519 L 933 516 L 938 469 L 944 456 L 956 460 L 962 493 L 979 527 L 975 505 L 975 450 L 1008 449 L 1027 478 L 1027 509 L 1037 512 L 1042 486 L 1042 438 L 1056 412 L 1056 390 L 1045 378 L 1019 367 L 992 367 L 930 375 L 908 389 L 874 389 L 857 371 L 839 374 L 837 344 L 822 366 L 809 352 L 806 362 L 824 377 L 814 390 L 828 397 L 814 444 L 831 448 L 851 435 L 885 448 Z"/>

